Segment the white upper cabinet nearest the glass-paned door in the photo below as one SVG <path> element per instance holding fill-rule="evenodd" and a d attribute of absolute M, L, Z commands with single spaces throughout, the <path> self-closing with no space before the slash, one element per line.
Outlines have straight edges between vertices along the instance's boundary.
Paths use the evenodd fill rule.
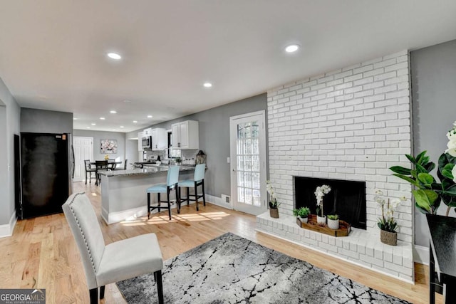
<path fill-rule="evenodd" d="M 173 149 L 199 149 L 199 126 L 195 120 L 186 120 L 171 125 Z"/>

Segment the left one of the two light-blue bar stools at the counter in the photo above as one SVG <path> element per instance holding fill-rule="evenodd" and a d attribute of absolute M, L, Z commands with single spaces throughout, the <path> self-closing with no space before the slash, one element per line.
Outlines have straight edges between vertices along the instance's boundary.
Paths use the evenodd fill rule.
<path fill-rule="evenodd" d="M 180 204 L 179 204 L 179 193 L 177 192 L 177 182 L 179 182 L 179 166 L 170 166 L 168 169 L 168 175 L 166 178 L 166 184 L 157 184 L 155 186 L 147 188 L 147 219 L 150 219 L 150 211 L 154 209 L 168 209 L 168 214 L 170 215 L 171 220 L 171 202 L 170 202 L 170 192 L 172 189 L 175 189 L 176 199 L 177 199 L 177 213 L 180 213 Z M 157 194 L 157 206 L 150 206 L 150 194 Z M 161 201 L 160 194 L 166 193 L 167 200 Z M 167 203 L 167 207 L 162 207 L 162 203 Z"/>

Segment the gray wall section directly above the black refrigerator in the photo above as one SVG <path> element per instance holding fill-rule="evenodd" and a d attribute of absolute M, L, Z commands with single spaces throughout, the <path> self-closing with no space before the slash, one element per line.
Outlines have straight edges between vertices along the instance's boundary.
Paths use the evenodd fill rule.
<path fill-rule="evenodd" d="M 21 132 L 73 133 L 73 113 L 21 108 Z"/>

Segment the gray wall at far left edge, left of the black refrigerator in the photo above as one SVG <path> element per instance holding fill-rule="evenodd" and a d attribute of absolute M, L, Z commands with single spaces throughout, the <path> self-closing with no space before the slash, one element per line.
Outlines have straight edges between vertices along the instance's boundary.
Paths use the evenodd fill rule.
<path fill-rule="evenodd" d="M 6 158 L 0 158 L 0 171 L 6 177 L 6 182 L 0 183 L 0 225 L 8 224 L 15 213 L 14 206 L 14 135 L 20 132 L 21 108 L 14 100 L 8 88 L 0 78 L 0 104 L 3 105 L 0 132 L 4 142 L 0 142 Z M 6 120 L 6 122 L 5 122 Z"/>

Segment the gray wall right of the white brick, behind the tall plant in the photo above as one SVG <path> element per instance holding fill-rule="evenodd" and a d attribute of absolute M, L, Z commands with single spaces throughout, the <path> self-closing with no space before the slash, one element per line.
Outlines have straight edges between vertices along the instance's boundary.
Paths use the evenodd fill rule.
<path fill-rule="evenodd" d="M 447 148 L 447 131 L 456 120 L 456 40 L 410 53 L 413 148 L 427 150 L 437 164 Z M 436 169 L 433 175 L 436 175 Z M 437 179 L 438 181 L 438 179 Z M 439 214 L 445 214 L 441 204 Z M 450 212 L 455 216 L 455 212 Z M 425 216 L 415 209 L 415 244 L 429 246 Z"/>

